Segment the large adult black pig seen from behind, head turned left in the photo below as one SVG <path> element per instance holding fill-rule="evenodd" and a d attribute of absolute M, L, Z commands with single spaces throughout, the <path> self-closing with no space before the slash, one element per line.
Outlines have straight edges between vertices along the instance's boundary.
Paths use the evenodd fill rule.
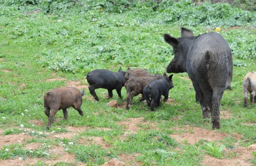
<path fill-rule="evenodd" d="M 181 28 L 181 37 L 164 34 L 173 47 L 174 58 L 167 66 L 168 73 L 187 72 L 196 91 L 203 118 L 210 118 L 212 128 L 220 128 L 220 99 L 225 89 L 231 89 L 233 58 L 226 40 L 216 32 L 194 36 Z M 209 112 L 210 111 L 210 112 Z"/>

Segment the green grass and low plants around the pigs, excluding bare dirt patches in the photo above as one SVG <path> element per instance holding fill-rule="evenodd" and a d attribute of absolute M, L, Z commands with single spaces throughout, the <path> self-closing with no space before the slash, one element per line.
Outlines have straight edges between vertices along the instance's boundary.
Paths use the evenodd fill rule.
<path fill-rule="evenodd" d="M 97 18 L 98 21 L 91 21 L 89 16 Z M 76 110 L 69 108 L 68 120 L 65 121 L 62 111 L 59 111 L 55 117 L 61 119 L 53 123 L 50 131 L 46 130 L 46 125 L 37 126 L 29 122 L 31 119 L 36 119 L 47 124 L 48 119 L 44 114 L 43 105 L 44 92 L 55 87 L 67 86 L 65 83 L 67 80 L 82 80 L 83 84 L 88 85 L 85 75 L 92 69 L 118 71 L 120 67 L 123 69 L 131 67 L 147 69 L 152 73 L 164 72 L 173 55 L 172 48 L 163 40 L 163 33 L 179 37 L 180 25 L 150 22 L 142 26 L 139 23 L 134 24 L 136 20 L 132 18 L 133 16 L 127 13 L 104 15 L 104 13 L 90 11 L 81 15 L 76 11 L 70 11 L 62 17 L 43 13 L 26 15 L 21 11 L 13 11 L 11 16 L 1 15 L 0 26 L 4 26 L 0 29 L 0 130 L 3 130 L 2 136 L 19 133 L 32 136 L 33 139 L 23 142 L 24 145 L 38 142 L 47 143 L 49 146 L 60 146 L 60 142 L 63 142 L 68 148 L 66 151 L 74 154 L 77 162 L 84 162 L 87 165 L 100 165 L 122 154 L 137 154 L 134 160 L 141 162 L 142 165 L 200 165 L 205 153 L 225 158 L 225 155 L 221 154 L 222 151 L 218 151 L 218 146 L 221 147 L 222 144 L 226 147 L 248 147 L 254 143 L 255 125 L 247 126 L 245 123 L 256 122 L 256 107 L 252 105 L 243 108 L 241 80 L 251 71 L 251 68 L 255 70 L 255 57 L 244 52 L 249 50 L 253 54 L 253 48 L 245 49 L 244 43 L 252 43 L 255 40 L 256 30 L 246 26 L 237 29 L 223 27 L 219 32 L 228 41 L 234 53 L 235 66 L 233 90 L 225 91 L 220 106 L 220 111 L 228 110 L 232 117 L 221 119 L 221 129 L 217 131 L 230 136 L 216 141 L 214 145 L 217 150 L 205 148 L 204 140 L 190 145 L 186 140 L 179 143 L 170 136 L 174 133 L 188 132 L 184 130 L 177 132 L 174 129 L 187 125 L 212 130 L 211 123 L 201 118 L 201 108 L 195 103 L 192 83 L 184 79 L 188 77 L 186 73 L 174 74 L 174 88 L 169 93 L 169 98 L 174 102 L 161 103 L 161 107 L 156 108 L 156 112 L 150 112 L 148 106 L 140 102 L 138 97 L 134 97 L 134 104 L 130 110 L 111 108 L 106 105 L 110 100 L 117 100 L 119 104 L 125 101 L 125 88 L 122 89 L 124 98 L 122 101 L 118 99 L 115 91 L 113 99 L 105 99 L 103 95 L 107 90 L 98 89 L 96 93 L 100 98 L 99 102 L 86 98 L 91 97 L 91 94 L 89 90 L 85 91 L 86 97 L 83 98 L 82 105 L 83 117 Z M 124 18 L 127 18 L 125 19 L 127 25 L 123 26 L 120 21 Z M 203 25 L 188 26 L 188 28 L 192 29 L 196 35 L 213 31 Z M 66 80 L 45 81 L 49 78 Z M 122 136 L 127 128 L 119 122 L 127 118 L 139 117 L 144 117 L 144 120 L 149 123 L 140 123 L 136 133 L 129 133 L 123 139 Z M 156 124 L 156 127 L 152 128 L 152 123 Z M 23 127 L 20 127 L 21 124 Z M 71 139 L 49 137 L 53 131 L 58 134 L 67 133 L 68 126 L 83 126 L 86 130 L 78 132 L 78 135 Z M 109 130 L 104 130 L 103 127 Z M 24 131 L 28 128 L 29 131 Z M 193 134 L 193 131 L 189 133 Z M 234 133 L 244 137 L 238 141 L 232 135 Z M 78 143 L 81 138 L 90 140 L 89 137 L 92 136 L 102 137 L 113 146 L 105 149 L 97 144 Z M 74 142 L 74 145 L 68 142 Z M 38 161 L 36 165 L 48 165 L 44 163 L 44 157 L 47 156 L 43 153 L 45 148 L 30 154 L 29 150 L 24 149 L 23 144 L 4 146 L 0 149 L 0 159 L 40 157 L 43 161 Z M 37 151 L 39 153 L 36 153 Z M 251 162 L 255 164 L 255 160 L 253 157 Z M 72 164 L 75 165 L 66 162 L 56 163 L 60 166 Z"/>

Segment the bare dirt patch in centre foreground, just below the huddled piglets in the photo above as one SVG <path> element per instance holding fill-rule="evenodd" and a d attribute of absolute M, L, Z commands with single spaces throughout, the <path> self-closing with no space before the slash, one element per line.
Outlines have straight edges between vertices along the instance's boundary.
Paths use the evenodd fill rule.
<path fill-rule="evenodd" d="M 138 124 L 151 125 L 151 129 L 154 128 L 157 125 L 157 123 L 150 123 L 149 121 L 143 121 L 143 119 L 144 119 L 143 117 L 128 118 L 128 119 L 125 119 L 124 121 L 121 121 L 117 124 L 126 127 L 127 131 L 131 131 L 131 132 L 134 132 L 134 133 L 136 133 L 140 129 Z"/>

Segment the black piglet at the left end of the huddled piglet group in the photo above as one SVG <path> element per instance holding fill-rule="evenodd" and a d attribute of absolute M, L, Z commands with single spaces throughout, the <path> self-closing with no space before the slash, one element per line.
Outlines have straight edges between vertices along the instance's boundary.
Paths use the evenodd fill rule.
<path fill-rule="evenodd" d="M 118 97 L 122 99 L 121 89 L 124 86 L 124 75 L 126 72 L 119 69 L 118 72 L 112 72 L 106 69 L 96 69 L 87 73 L 86 79 L 89 83 L 89 90 L 95 100 L 99 101 L 95 89 L 104 88 L 108 90 L 108 98 L 113 97 L 112 90 L 116 89 Z"/>

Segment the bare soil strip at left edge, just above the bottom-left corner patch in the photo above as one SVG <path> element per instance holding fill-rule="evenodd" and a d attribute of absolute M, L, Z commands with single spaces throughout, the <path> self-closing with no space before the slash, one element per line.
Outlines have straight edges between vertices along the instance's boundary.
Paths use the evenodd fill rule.
<path fill-rule="evenodd" d="M 20 142 L 25 142 L 26 140 L 31 140 L 30 135 L 25 134 L 11 134 L 11 135 L 0 135 L 0 148 L 4 145 L 17 144 Z"/>

